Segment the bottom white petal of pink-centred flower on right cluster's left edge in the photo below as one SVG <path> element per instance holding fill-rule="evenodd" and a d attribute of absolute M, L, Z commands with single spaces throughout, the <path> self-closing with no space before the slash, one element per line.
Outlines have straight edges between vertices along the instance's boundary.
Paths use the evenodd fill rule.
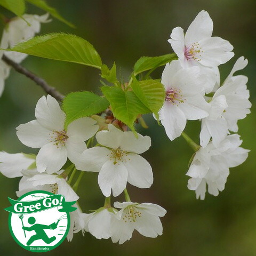
<path fill-rule="evenodd" d="M 164 102 L 160 119 L 170 140 L 179 137 L 187 123 L 186 117 L 180 108 L 170 102 Z"/>

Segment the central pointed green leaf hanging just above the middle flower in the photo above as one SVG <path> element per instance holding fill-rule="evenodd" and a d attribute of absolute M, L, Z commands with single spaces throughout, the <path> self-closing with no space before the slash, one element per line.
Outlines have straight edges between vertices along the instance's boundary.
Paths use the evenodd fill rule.
<path fill-rule="evenodd" d="M 102 93 L 110 102 L 115 118 L 122 121 L 135 132 L 134 121 L 139 114 L 150 113 L 133 91 L 123 91 L 115 86 L 102 86 Z"/>

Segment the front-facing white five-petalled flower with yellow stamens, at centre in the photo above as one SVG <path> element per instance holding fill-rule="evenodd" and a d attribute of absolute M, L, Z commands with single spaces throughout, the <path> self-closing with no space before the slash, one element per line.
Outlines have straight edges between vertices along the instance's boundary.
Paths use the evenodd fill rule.
<path fill-rule="evenodd" d="M 106 197 L 111 190 L 118 196 L 126 187 L 126 182 L 139 188 L 149 188 L 153 183 L 153 172 L 150 164 L 139 156 L 149 149 L 151 139 L 133 132 L 123 132 L 113 124 L 108 125 L 109 131 L 100 131 L 96 139 L 103 147 L 85 150 L 76 168 L 82 171 L 99 172 L 98 182 Z"/>

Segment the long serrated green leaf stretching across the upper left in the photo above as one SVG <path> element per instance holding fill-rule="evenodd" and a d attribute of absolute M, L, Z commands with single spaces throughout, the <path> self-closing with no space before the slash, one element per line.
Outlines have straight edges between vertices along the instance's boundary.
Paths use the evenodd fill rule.
<path fill-rule="evenodd" d="M 94 47 L 81 37 L 53 33 L 36 36 L 7 51 L 22 52 L 37 57 L 62 60 L 101 69 L 101 59 Z"/>

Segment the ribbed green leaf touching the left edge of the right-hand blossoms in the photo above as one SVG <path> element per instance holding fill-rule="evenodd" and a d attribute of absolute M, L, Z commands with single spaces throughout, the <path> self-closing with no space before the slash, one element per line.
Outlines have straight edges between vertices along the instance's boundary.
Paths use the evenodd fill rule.
<path fill-rule="evenodd" d="M 141 102 L 158 118 L 158 111 L 162 108 L 165 100 L 164 86 L 156 80 L 138 82 L 133 77 L 131 87 Z"/>

